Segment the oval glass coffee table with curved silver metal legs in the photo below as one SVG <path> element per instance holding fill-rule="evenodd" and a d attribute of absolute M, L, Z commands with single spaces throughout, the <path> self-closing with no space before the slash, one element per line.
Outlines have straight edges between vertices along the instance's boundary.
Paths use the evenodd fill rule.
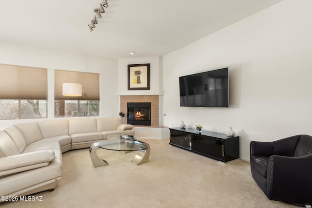
<path fill-rule="evenodd" d="M 107 166 L 108 162 L 101 159 L 97 155 L 97 150 L 101 148 L 110 151 L 119 151 L 122 153 L 129 153 L 137 151 L 137 155 L 131 160 L 135 165 L 147 163 L 150 157 L 150 146 L 146 142 L 142 142 L 128 135 L 112 134 L 107 136 L 107 140 L 101 140 L 91 145 L 90 157 L 94 167 Z"/>

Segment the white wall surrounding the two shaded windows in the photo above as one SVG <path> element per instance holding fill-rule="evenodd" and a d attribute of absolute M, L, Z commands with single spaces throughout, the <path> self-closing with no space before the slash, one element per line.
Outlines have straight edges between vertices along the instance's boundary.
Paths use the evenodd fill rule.
<path fill-rule="evenodd" d="M 0 63 L 48 69 L 48 119 L 54 119 L 54 70 L 100 74 L 100 116 L 117 117 L 117 60 L 0 43 Z M 0 129 L 38 119 L 0 120 Z"/>

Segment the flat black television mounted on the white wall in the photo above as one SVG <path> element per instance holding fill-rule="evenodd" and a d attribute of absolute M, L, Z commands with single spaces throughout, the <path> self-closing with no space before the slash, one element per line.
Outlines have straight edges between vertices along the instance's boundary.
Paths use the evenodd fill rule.
<path fill-rule="evenodd" d="M 180 76 L 180 106 L 229 107 L 228 68 Z"/>

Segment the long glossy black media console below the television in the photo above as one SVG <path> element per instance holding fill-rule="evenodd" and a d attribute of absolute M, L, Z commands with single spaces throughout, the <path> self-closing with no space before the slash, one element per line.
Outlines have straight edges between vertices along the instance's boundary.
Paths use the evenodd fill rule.
<path fill-rule="evenodd" d="M 239 137 L 225 133 L 202 131 L 195 129 L 169 128 L 170 143 L 173 146 L 211 157 L 221 162 L 229 162 L 239 158 Z"/>

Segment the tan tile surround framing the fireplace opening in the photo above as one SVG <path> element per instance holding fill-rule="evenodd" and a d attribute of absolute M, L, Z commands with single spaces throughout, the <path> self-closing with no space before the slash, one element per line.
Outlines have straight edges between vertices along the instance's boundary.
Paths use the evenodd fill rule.
<path fill-rule="evenodd" d="M 150 102 L 151 109 L 151 127 L 158 127 L 158 95 L 120 95 L 120 112 L 127 116 L 127 103 Z M 125 117 L 124 123 L 127 122 Z"/>

